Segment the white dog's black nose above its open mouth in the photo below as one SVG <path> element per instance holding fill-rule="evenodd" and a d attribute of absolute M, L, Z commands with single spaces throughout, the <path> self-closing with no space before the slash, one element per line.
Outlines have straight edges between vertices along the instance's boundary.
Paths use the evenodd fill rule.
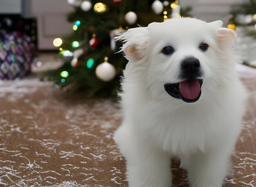
<path fill-rule="evenodd" d="M 197 58 L 185 58 L 181 63 L 181 78 L 191 79 L 202 76 L 200 62 Z"/>

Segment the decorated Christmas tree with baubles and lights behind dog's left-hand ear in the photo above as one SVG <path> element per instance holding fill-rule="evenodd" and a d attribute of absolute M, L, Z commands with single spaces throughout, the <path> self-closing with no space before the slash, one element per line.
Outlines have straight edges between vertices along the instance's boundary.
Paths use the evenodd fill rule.
<path fill-rule="evenodd" d="M 133 27 L 150 22 L 163 22 L 171 17 L 189 16 L 190 7 L 180 9 L 178 0 L 68 0 L 74 12 L 68 21 L 74 32 L 56 38 L 65 63 L 59 69 L 45 73 L 55 86 L 85 92 L 85 96 L 116 96 L 120 76 L 127 60 L 117 53 L 121 43 L 115 36 Z"/>

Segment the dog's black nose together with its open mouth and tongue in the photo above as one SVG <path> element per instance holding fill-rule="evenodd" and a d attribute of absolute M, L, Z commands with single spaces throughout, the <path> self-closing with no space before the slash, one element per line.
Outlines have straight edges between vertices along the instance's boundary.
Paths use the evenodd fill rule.
<path fill-rule="evenodd" d="M 201 96 L 201 86 L 203 84 L 200 62 L 197 58 L 185 58 L 182 60 L 179 78 L 177 83 L 166 83 L 166 92 L 177 99 L 185 102 L 196 102 Z"/>

